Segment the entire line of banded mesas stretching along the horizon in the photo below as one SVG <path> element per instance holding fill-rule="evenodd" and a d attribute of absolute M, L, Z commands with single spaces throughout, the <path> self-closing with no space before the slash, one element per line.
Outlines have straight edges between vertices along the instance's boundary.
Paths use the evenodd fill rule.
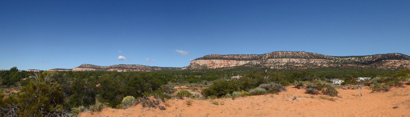
<path fill-rule="evenodd" d="M 388 53 L 362 56 L 329 56 L 317 53 L 276 51 L 260 55 L 206 55 L 192 60 L 187 67 L 157 67 L 144 65 L 118 64 L 98 66 L 82 64 L 73 69 L 54 68 L 48 71 L 166 71 L 166 70 L 204 70 L 231 68 L 271 68 L 307 69 L 323 67 L 340 68 L 378 68 L 408 69 L 410 56 L 401 53 Z M 28 71 L 28 70 L 27 70 Z M 41 70 L 33 70 L 41 71 Z"/>

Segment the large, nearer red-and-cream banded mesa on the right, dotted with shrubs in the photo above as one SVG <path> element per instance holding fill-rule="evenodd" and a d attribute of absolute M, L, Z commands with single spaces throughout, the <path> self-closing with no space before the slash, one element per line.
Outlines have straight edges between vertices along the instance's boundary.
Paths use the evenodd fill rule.
<path fill-rule="evenodd" d="M 410 68 L 410 57 L 399 53 L 368 56 L 328 56 L 307 52 L 272 52 L 262 55 L 207 55 L 192 60 L 188 69 L 268 66 L 272 69 L 321 67 Z"/>

